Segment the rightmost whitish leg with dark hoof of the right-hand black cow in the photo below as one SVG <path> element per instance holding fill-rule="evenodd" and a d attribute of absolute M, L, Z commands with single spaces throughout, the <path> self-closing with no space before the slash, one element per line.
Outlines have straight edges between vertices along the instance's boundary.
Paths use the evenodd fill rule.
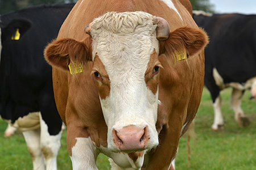
<path fill-rule="evenodd" d="M 250 121 L 245 116 L 245 113 L 243 113 L 241 108 L 242 96 L 243 96 L 243 91 L 233 88 L 232 96 L 230 99 L 230 105 L 234 111 L 235 120 L 238 122 L 238 124 L 242 127 L 247 127 L 250 125 Z"/>

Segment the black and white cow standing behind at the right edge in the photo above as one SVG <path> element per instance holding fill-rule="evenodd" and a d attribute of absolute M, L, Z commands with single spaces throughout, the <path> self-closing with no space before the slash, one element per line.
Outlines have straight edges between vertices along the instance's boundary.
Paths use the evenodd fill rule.
<path fill-rule="evenodd" d="M 208 32 L 210 43 L 205 48 L 205 86 L 210 91 L 214 108 L 213 130 L 222 129 L 220 91 L 232 87 L 230 105 L 242 127 L 250 121 L 241 108 L 243 92 L 251 89 L 256 97 L 256 15 L 193 15 L 196 23 Z"/>

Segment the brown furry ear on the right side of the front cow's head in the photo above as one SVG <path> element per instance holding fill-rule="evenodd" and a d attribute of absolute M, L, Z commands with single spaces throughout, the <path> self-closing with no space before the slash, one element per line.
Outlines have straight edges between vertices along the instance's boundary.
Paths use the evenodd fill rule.
<path fill-rule="evenodd" d="M 170 33 L 164 46 L 166 50 L 171 50 L 169 51 L 171 54 L 175 55 L 183 51 L 186 57 L 191 57 L 203 50 L 208 42 L 207 33 L 203 29 L 181 27 Z"/>

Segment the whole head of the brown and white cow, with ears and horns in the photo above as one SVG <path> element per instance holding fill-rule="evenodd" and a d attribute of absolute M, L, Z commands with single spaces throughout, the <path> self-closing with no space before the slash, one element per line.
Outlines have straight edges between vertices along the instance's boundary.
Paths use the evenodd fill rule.
<path fill-rule="evenodd" d="M 193 36 L 186 35 L 187 29 Z M 168 44 L 179 41 L 175 44 L 181 45 L 170 46 L 171 51 L 185 48 L 192 55 L 206 44 L 197 43 L 207 41 L 206 36 L 202 38 L 203 31 L 184 27 L 170 33 L 164 19 L 146 12 L 108 12 L 94 19 L 85 31 L 91 36 L 91 47 L 88 41 L 55 40 L 46 48 L 47 61 L 63 71 L 68 71 L 70 62 L 93 61 L 91 71 L 108 126 L 110 150 L 131 152 L 156 147 L 162 67 L 158 60 L 159 40 L 170 35 L 173 39 L 167 40 Z"/>

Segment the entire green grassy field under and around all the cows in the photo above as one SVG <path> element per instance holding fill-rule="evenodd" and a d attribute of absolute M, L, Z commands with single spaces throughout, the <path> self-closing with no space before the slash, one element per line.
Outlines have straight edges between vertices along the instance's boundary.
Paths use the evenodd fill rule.
<path fill-rule="evenodd" d="M 234 113 L 229 107 L 231 90 L 225 90 L 222 96 L 222 112 L 225 128 L 212 131 L 213 108 L 209 92 L 204 90 L 199 112 L 195 120 L 195 142 L 191 141 L 191 166 L 187 161 L 187 137 L 180 140 L 179 154 L 176 158 L 176 170 L 253 170 L 256 169 L 256 101 L 249 100 L 249 91 L 242 99 L 243 111 L 251 121 L 248 128 L 240 128 L 234 121 Z M 0 120 L 0 169 L 31 170 L 32 160 L 28 154 L 22 133 L 4 138 L 7 124 Z M 57 159 L 58 169 L 72 169 L 68 156 L 66 135 L 63 132 L 61 148 Z M 100 170 L 110 169 L 108 158 L 100 155 L 97 159 Z"/>

